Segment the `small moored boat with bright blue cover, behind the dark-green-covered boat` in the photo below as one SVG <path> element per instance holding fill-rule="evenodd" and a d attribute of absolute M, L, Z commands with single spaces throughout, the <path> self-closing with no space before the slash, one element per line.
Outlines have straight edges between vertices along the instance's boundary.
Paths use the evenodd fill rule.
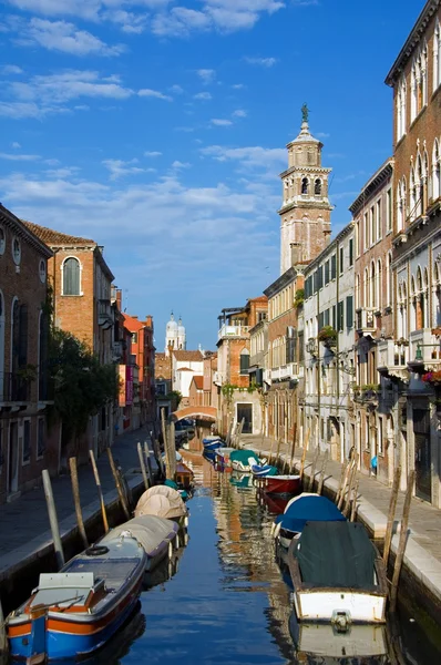
<path fill-rule="evenodd" d="M 307 522 L 346 522 L 346 518 L 326 497 L 304 492 L 287 503 L 283 515 L 277 515 L 274 536 L 283 548 L 289 548 Z"/>

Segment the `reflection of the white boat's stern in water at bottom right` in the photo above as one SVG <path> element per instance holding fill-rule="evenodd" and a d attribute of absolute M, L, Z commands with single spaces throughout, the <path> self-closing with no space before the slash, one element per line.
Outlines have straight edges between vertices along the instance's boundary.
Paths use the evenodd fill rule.
<path fill-rule="evenodd" d="M 387 628 L 384 625 L 352 625 L 338 633 L 329 624 L 299 623 L 296 612 L 289 617 L 289 632 L 299 663 L 308 665 L 387 665 Z"/>

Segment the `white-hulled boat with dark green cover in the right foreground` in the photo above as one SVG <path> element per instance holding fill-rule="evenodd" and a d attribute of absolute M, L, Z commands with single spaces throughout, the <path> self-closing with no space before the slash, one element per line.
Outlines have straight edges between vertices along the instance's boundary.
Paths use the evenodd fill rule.
<path fill-rule="evenodd" d="M 346 632 L 352 623 L 384 623 L 384 563 L 365 526 L 308 522 L 288 551 L 299 621 L 328 622 Z"/>

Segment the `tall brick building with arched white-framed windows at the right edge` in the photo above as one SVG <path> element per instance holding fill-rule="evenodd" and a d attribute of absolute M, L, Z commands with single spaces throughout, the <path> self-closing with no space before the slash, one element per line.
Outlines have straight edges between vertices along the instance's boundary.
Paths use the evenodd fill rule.
<path fill-rule="evenodd" d="M 425 3 L 386 82 L 394 104 L 394 326 L 397 337 L 409 341 L 401 387 L 407 399 L 398 423 L 402 485 L 414 469 L 416 494 L 440 507 L 440 383 L 434 374 L 441 370 L 440 0 Z M 391 354 L 387 367 L 392 367 Z"/>

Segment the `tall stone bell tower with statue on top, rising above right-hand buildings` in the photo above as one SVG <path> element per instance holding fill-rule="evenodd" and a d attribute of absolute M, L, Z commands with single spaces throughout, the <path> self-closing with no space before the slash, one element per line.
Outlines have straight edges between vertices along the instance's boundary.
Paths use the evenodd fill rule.
<path fill-rule="evenodd" d="M 280 275 L 293 265 L 315 258 L 329 243 L 328 178 L 321 166 L 322 143 L 309 133 L 308 108 L 301 109 L 300 134 L 288 143 L 288 168 L 280 174 L 284 200 L 280 215 Z"/>

